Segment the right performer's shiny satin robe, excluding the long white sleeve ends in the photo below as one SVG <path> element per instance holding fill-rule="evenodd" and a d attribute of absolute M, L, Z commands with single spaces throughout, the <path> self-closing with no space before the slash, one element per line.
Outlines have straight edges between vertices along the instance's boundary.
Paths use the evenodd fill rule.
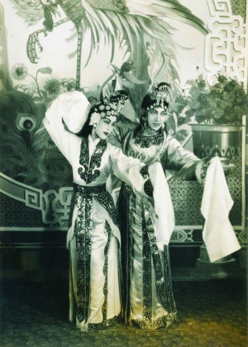
<path fill-rule="evenodd" d="M 142 140 L 142 139 L 141 139 Z M 125 154 L 146 165 L 159 161 L 166 170 L 175 171 L 178 178 L 192 179 L 199 162 L 191 152 L 169 135 L 153 141 L 137 141 L 132 132 L 126 136 Z M 126 198 L 123 199 L 124 195 Z M 126 184 L 120 200 L 121 213 L 126 210 L 123 224 L 124 320 L 141 329 L 168 327 L 176 318 L 168 248 L 160 251 L 156 245 L 155 212 L 147 198 L 138 198 Z M 122 218 L 122 217 L 121 217 Z"/>

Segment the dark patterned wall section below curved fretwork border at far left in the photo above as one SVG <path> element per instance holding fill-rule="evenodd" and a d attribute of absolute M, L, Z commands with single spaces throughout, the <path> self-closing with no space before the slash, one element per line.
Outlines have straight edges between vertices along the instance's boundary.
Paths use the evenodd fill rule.
<path fill-rule="evenodd" d="M 24 202 L 0 193 L 1 227 L 43 227 L 42 213 Z"/>

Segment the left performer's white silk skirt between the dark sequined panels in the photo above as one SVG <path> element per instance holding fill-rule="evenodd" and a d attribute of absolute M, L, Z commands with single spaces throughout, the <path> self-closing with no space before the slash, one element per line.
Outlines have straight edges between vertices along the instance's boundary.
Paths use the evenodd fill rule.
<path fill-rule="evenodd" d="M 73 211 L 72 227 L 76 219 L 78 210 Z M 78 322 L 76 325 L 81 331 L 88 331 L 88 327 L 104 327 L 103 324 L 103 305 L 107 320 L 119 316 L 121 312 L 121 299 L 119 287 L 119 267 L 118 267 L 118 240 L 111 233 L 108 245 L 108 253 L 105 254 L 105 248 L 108 243 L 108 235 L 105 231 L 106 218 L 110 226 L 113 222 L 105 208 L 93 198 L 93 219 L 91 231 L 91 256 L 90 256 L 90 298 L 87 322 Z M 114 226 L 116 228 L 116 226 Z M 70 251 L 70 312 L 69 319 L 75 319 L 75 301 L 77 300 L 77 252 L 76 239 L 71 230 L 68 230 L 67 238 Z M 104 273 L 104 266 L 107 257 L 107 274 Z M 104 288 L 107 276 L 107 294 Z M 105 293 L 104 293 L 105 291 Z M 107 300 L 107 303 L 106 303 Z M 74 301 L 74 304 L 73 304 Z M 108 324 L 107 324 L 108 325 Z M 106 326 L 106 324 L 105 324 Z"/>

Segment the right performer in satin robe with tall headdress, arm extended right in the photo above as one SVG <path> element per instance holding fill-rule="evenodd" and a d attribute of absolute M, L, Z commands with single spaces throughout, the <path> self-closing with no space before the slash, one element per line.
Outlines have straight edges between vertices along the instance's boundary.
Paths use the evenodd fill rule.
<path fill-rule="evenodd" d="M 197 178 L 199 182 L 204 183 L 210 163 L 210 158 L 199 160 L 167 134 L 166 119 L 169 106 L 167 96 L 170 88 L 171 86 L 167 83 L 154 85 L 151 92 L 143 99 L 143 115 L 140 124 L 133 129 L 133 124 L 118 122 L 109 139 L 113 144 L 119 146 L 121 144 L 126 155 L 138 158 L 146 165 L 156 163 L 155 171 L 147 166 L 142 169 L 142 173 L 145 173 L 145 185 L 149 184 L 150 179 L 152 181 L 150 197 L 138 196 L 125 183 L 119 195 L 124 321 L 143 329 L 168 327 L 176 318 L 168 253 L 168 244 L 175 221 L 164 170 L 171 171 L 179 179 Z M 128 132 L 131 127 L 132 130 Z M 222 175 L 215 175 L 215 177 L 221 177 L 222 183 L 215 183 L 216 189 L 224 183 L 226 185 L 221 164 L 219 170 L 222 171 Z M 227 185 L 226 192 L 228 192 Z M 148 190 L 147 193 L 149 194 Z M 204 195 L 207 197 L 209 194 L 204 191 Z M 223 199 L 225 196 L 227 195 L 223 195 Z M 208 215 L 211 218 L 211 213 L 208 211 L 212 203 L 211 198 L 205 199 L 202 205 L 205 211 L 204 217 Z M 223 212 L 225 221 L 222 219 L 221 223 L 230 225 L 228 213 L 227 209 Z M 209 221 L 207 223 L 206 220 L 205 225 L 208 226 L 208 230 L 204 230 L 203 237 L 211 235 L 213 239 L 214 224 L 216 224 L 214 220 L 212 223 Z M 220 223 L 218 227 L 215 228 L 217 233 L 219 233 L 218 229 L 221 229 Z M 222 235 L 222 245 L 218 243 L 216 247 L 211 242 L 206 244 L 213 260 L 240 248 L 231 229 L 229 226 L 230 238 L 227 240 L 230 242 L 223 243 L 224 235 Z M 226 231 L 225 228 L 224 230 Z M 218 234 L 215 236 L 215 242 L 216 240 L 218 240 Z"/>

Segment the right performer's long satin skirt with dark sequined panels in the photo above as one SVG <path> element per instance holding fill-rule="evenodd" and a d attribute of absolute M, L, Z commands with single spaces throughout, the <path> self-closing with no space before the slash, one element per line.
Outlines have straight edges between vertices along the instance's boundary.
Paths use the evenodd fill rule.
<path fill-rule="evenodd" d="M 134 196 L 134 200 L 130 320 L 141 329 L 168 327 L 177 312 L 168 249 L 165 246 L 162 252 L 156 245 L 152 204 L 145 198 Z"/>

